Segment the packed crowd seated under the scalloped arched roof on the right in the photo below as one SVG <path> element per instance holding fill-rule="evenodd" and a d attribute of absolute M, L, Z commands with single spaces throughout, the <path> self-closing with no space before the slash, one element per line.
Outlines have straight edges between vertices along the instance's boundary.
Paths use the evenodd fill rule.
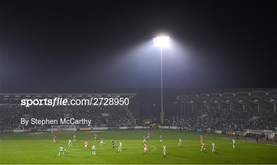
<path fill-rule="evenodd" d="M 244 131 L 244 129 L 274 130 L 277 122 L 277 114 L 272 107 L 264 107 L 260 112 L 256 109 L 243 111 L 242 108 L 236 108 L 230 111 L 227 107 L 221 110 L 197 107 L 185 116 L 184 119 L 175 122 L 175 125 L 194 130 Z"/>

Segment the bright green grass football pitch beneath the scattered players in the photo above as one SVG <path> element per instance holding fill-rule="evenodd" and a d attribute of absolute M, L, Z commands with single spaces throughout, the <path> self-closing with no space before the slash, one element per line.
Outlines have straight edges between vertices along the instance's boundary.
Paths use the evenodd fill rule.
<path fill-rule="evenodd" d="M 255 143 L 255 141 L 236 141 L 233 149 L 231 139 L 234 136 L 200 132 L 180 132 L 178 130 L 150 130 L 147 141 L 148 151 L 143 152 L 142 137 L 146 130 L 120 130 L 97 132 L 106 145 L 100 146 L 100 140 L 93 139 L 93 132 L 76 132 L 77 141 L 68 148 L 68 139 L 73 141 L 74 133 L 56 133 L 57 142 L 53 143 L 50 133 L 2 133 L 0 143 L 1 164 L 276 164 L 276 142 Z M 160 135 L 163 142 L 160 143 Z M 205 151 L 200 151 L 199 135 L 203 136 Z M 183 147 L 178 146 L 182 138 Z M 115 149 L 111 147 L 114 139 Z M 88 140 L 88 150 L 84 141 Z M 118 152 L 118 143 L 122 141 L 122 151 Z M 211 152 L 211 142 L 215 142 L 215 153 Z M 262 140 L 265 141 L 265 140 Z M 91 154 L 91 146 L 96 146 L 97 155 Z M 163 156 L 162 145 L 166 146 Z M 58 156 L 63 145 L 65 156 Z"/>

